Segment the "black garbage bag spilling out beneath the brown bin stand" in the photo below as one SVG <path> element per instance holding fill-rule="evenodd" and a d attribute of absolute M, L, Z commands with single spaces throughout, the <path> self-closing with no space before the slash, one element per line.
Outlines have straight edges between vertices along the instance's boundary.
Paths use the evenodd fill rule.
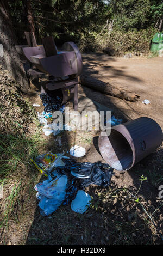
<path fill-rule="evenodd" d="M 42 100 L 43 106 L 45 106 L 45 112 L 57 111 L 61 105 L 63 98 L 57 94 L 49 96 L 47 93 L 41 93 L 40 99 Z"/>

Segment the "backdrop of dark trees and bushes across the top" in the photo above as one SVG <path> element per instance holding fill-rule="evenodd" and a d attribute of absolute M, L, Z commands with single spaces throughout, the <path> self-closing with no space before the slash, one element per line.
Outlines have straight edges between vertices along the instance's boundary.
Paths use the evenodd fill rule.
<path fill-rule="evenodd" d="M 82 52 L 111 47 L 118 55 L 147 54 L 163 13 L 162 0 L 31 0 L 31 4 L 38 44 L 52 35 L 58 46 L 74 41 Z M 9 5 L 17 41 L 24 44 L 26 1 L 9 0 Z"/>

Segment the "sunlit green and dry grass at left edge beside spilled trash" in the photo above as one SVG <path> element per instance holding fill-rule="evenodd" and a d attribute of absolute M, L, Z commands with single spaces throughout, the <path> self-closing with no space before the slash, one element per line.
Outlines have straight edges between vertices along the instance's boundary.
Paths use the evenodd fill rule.
<path fill-rule="evenodd" d="M 30 162 L 37 156 L 40 145 L 44 144 L 41 135 L 0 135 L 0 185 L 4 196 L 1 205 L 0 228 L 8 227 L 9 220 L 22 212 L 33 193 L 33 187 L 39 173 Z M 25 191 L 25 202 L 22 195 Z M 23 199 L 24 201 L 24 199 Z"/>

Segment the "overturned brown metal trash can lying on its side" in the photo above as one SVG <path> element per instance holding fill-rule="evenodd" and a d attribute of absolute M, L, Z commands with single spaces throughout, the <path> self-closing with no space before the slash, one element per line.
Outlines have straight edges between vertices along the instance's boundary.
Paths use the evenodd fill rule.
<path fill-rule="evenodd" d="M 161 127 L 153 119 L 137 118 L 102 131 L 98 139 L 103 159 L 116 170 L 129 170 L 162 143 Z"/>

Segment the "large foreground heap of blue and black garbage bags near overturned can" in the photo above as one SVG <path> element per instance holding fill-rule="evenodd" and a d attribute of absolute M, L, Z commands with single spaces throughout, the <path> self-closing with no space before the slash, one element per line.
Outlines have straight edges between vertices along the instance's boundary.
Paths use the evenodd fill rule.
<path fill-rule="evenodd" d="M 43 216 L 52 214 L 61 204 L 71 204 L 73 211 L 85 212 L 91 197 L 82 189 L 90 184 L 109 186 L 113 172 L 108 164 L 101 162 L 76 163 L 64 156 L 64 152 L 53 154 L 49 151 L 32 161 L 48 177 L 34 187 Z"/>

